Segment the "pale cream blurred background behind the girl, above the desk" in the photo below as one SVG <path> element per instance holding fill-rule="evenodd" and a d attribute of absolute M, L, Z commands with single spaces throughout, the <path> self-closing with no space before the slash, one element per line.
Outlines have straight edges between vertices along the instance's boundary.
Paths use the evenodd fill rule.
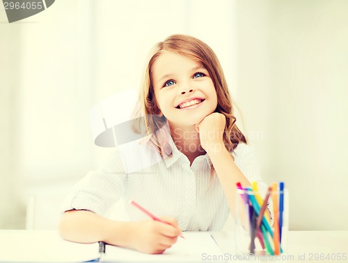
<path fill-rule="evenodd" d="M 0 229 L 54 229 L 57 205 L 112 151 L 88 112 L 137 89 L 173 33 L 218 55 L 290 230 L 348 230 L 348 1 L 59 0 L 8 23 L 0 4 Z M 121 112 L 119 113 L 121 114 Z"/>

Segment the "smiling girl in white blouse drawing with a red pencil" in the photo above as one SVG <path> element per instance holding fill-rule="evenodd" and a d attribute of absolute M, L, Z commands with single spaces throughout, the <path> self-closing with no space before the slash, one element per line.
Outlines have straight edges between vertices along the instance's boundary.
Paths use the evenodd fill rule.
<path fill-rule="evenodd" d="M 235 214 L 236 183 L 260 181 L 255 151 L 235 125 L 221 65 L 202 41 L 174 35 L 155 45 L 139 101 L 148 135 L 139 145 L 147 151 L 134 151 L 132 171 L 130 157 L 116 151 L 74 188 L 59 225 L 64 239 L 162 253 L 182 231 L 221 230 Z M 259 182 L 259 188 L 265 193 L 267 186 Z M 121 198 L 128 222 L 105 216 Z"/>

